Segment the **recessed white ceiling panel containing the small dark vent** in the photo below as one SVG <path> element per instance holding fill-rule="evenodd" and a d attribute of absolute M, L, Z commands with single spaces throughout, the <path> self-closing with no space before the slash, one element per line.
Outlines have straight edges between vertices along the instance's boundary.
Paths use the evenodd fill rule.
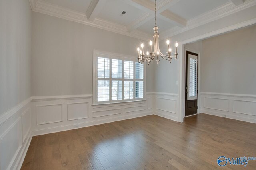
<path fill-rule="evenodd" d="M 126 11 L 126 13 L 123 16 L 120 16 L 123 11 Z M 120 0 L 108 0 L 98 15 L 98 18 L 127 26 L 143 13 L 144 11 L 130 6 Z"/>

